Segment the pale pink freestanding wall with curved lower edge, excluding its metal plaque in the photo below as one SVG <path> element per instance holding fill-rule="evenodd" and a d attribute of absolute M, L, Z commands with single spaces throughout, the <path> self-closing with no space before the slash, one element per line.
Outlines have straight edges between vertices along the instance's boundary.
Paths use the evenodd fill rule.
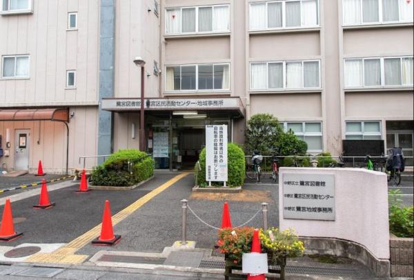
<path fill-rule="evenodd" d="M 283 188 L 279 188 L 279 228 L 293 228 L 303 237 L 354 241 L 377 259 L 389 259 L 388 189 L 386 174 L 353 168 L 281 168 L 284 174 L 333 174 L 335 221 L 284 219 Z"/>

